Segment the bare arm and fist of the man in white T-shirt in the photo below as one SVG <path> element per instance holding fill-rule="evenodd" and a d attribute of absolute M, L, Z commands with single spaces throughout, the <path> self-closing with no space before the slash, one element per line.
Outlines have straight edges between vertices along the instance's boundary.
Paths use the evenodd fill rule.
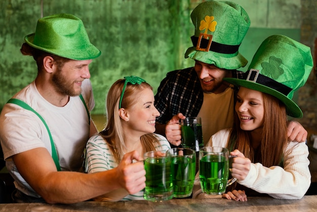
<path fill-rule="evenodd" d="M 127 153 L 119 166 L 96 173 L 57 171 L 45 148 L 35 148 L 13 156 L 22 178 L 48 203 L 75 203 L 109 193 L 119 188 L 136 193 L 145 187 L 141 157 Z"/>

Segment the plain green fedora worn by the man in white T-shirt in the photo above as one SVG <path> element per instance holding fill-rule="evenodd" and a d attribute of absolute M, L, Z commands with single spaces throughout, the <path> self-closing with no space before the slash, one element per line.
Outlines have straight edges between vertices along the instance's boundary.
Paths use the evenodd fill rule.
<path fill-rule="evenodd" d="M 90 43 L 83 21 L 71 14 L 38 19 L 35 33 L 24 40 L 35 49 L 73 60 L 94 59 L 101 54 Z"/>

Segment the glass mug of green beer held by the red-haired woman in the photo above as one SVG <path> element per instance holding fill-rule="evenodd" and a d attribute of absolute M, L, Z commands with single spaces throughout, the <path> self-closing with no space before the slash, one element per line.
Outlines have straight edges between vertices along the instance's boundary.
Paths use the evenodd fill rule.
<path fill-rule="evenodd" d="M 228 180 L 229 152 L 222 147 L 205 147 L 199 155 L 199 178 L 201 187 L 206 194 L 223 194 L 226 187 L 235 182 Z"/>

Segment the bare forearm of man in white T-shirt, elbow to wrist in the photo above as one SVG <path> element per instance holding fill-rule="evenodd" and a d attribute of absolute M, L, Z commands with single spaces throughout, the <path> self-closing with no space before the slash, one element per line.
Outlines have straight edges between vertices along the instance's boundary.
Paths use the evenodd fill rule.
<path fill-rule="evenodd" d="M 75 203 L 109 193 L 120 188 L 115 169 L 85 174 L 59 171 L 37 182 L 34 190 L 48 203 Z"/>

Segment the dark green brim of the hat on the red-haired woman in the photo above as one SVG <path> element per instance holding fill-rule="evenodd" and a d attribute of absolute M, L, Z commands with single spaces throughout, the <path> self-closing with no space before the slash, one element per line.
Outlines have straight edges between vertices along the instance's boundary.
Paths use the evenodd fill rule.
<path fill-rule="evenodd" d="M 251 81 L 246 81 L 246 80 L 241 80 L 241 79 L 235 79 L 235 78 L 224 78 L 223 81 L 226 81 L 228 83 L 231 83 L 236 86 L 242 86 L 245 88 L 249 88 L 252 90 L 260 91 L 263 93 L 270 94 L 278 99 L 280 99 L 286 107 L 286 112 L 287 115 L 294 117 L 294 118 L 302 118 L 303 117 L 303 112 L 300 110 L 298 105 L 291 99 L 289 99 L 286 95 L 269 88 L 267 86 L 251 82 Z"/>

